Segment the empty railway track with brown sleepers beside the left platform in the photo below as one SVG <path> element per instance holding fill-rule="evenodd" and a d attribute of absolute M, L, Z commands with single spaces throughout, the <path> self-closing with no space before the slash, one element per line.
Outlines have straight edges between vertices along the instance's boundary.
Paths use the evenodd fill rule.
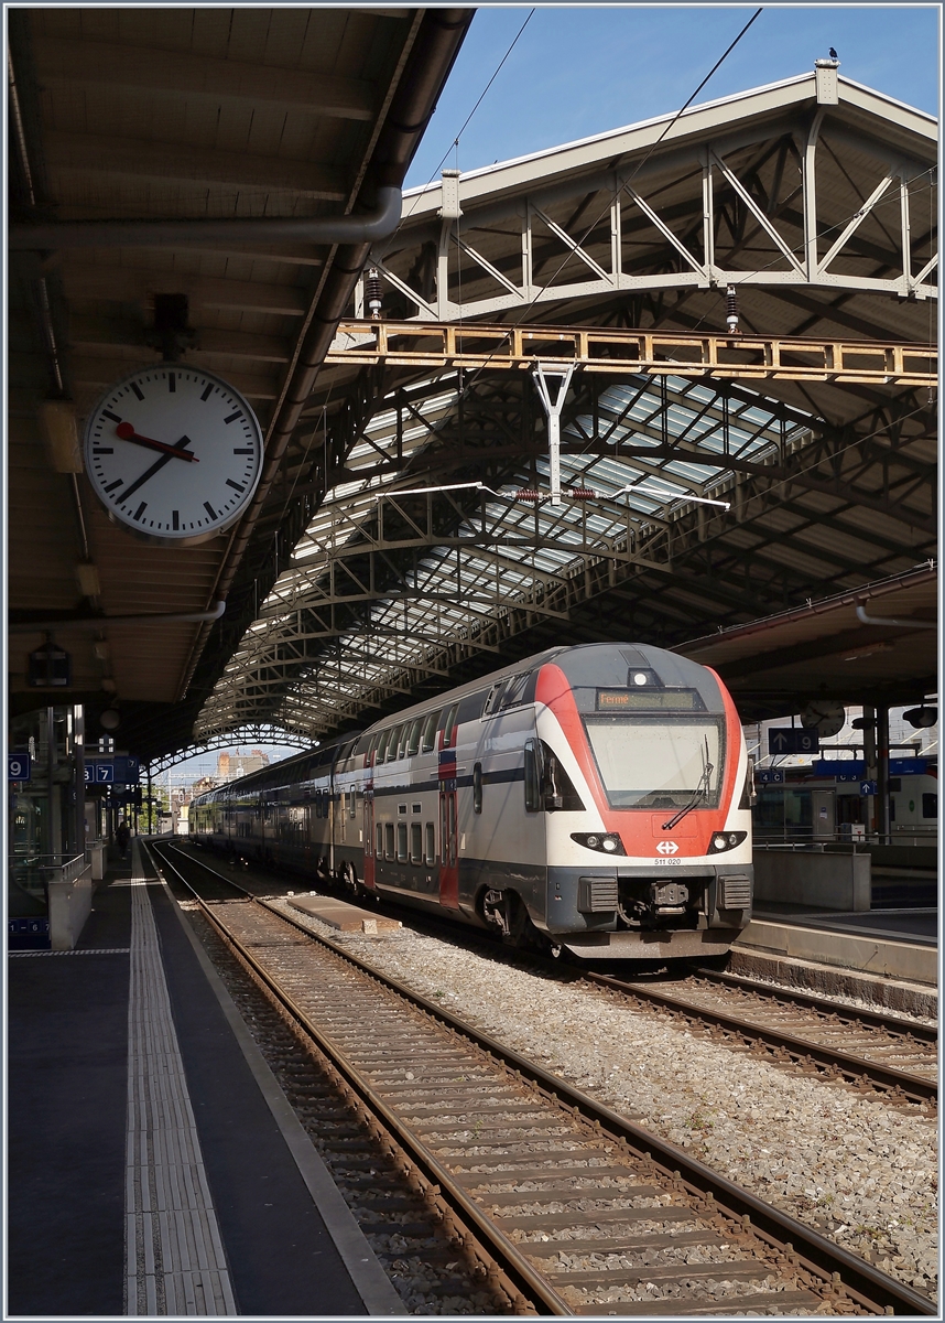
<path fill-rule="evenodd" d="M 209 865 L 160 855 L 221 886 Z M 266 901 L 218 894 L 202 912 L 407 1155 L 415 1192 L 452 1244 L 474 1246 L 508 1312 L 936 1314 Z"/>

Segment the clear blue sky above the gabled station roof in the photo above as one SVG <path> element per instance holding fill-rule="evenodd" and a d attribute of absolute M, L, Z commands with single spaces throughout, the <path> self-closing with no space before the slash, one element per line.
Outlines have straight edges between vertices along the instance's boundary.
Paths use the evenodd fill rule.
<path fill-rule="evenodd" d="M 757 5 L 545 5 L 460 138 L 529 5 L 485 5 L 411 165 L 406 187 L 677 111 Z M 938 4 L 773 4 L 699 93 L 697 105 L 813 69 L 834 46 L 841 74 L 938 112 Z M 459 159 L 457 159 L 459 157 Z"/>

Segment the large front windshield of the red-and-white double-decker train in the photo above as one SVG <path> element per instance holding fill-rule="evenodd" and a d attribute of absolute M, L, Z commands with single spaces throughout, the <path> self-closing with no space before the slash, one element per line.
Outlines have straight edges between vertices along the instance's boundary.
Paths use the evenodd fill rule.
<path fill-rule="evenodd" d="M 718 806 L 720 721 L 588 716 L 584 724 L 612 808 Z"/>

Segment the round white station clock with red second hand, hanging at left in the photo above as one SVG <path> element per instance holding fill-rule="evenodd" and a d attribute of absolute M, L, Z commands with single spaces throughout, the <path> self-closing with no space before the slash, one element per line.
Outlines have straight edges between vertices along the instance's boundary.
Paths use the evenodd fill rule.
<path fill-rule="evenodd" d="M 89 414 L 86 472 L 111 519 L 185 546 L 248 505 L 263 435 L 246 400 L 201 368 L 161 363 L 116 381 Z"/>

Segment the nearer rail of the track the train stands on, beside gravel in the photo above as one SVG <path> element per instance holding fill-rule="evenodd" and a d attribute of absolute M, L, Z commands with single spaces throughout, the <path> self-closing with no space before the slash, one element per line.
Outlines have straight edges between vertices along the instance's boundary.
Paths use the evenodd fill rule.
<path fill-rule="evenodd" d="M 698 1003 L 687 1002 L 685 998 L 673 996 L 669 992 L 657 992 L 654 988 L 641 987 L 637 983 L 628 983 L 615 979 L 608 974 L 595 974 L 587 970 L 583 978 L 599 987 L 619 991 L 624 995 L 638 998 L 641 1002 L 650 1002 L 653 1005 L 675 1011 L 695 1020 L 702 1020 L 715 1028 L 728 1033 L 736 1033 L 745 1040 L 764 1043 L 765 1046 L 781 1049 L 792 1057 L 823 1069 L 839 1070 L 843 1076 L 854 1080 L 868 1080 L 879 1089 L 887 1089 L 896 1095 L 904 1095 L 912 1102 L 926 1102 L 937 1105 L 938 1084 L 933 1080 L 924 1080 L 921 1076 L 911 1074 L 907 1070 L 895 1070 L 891 1066 L 879 1065 L 866 1057 L 856 1057 L 849 1052 L 839 1052 L 823 1044 L 813 1043 L 810 1039 L 798 1039 L 793 1033 L 784 1033 L 772 1029 L 756 1020 L 741 1019 L 741 1016 L 727 1015 L 724 1011 L 715 1011 Z"/>

